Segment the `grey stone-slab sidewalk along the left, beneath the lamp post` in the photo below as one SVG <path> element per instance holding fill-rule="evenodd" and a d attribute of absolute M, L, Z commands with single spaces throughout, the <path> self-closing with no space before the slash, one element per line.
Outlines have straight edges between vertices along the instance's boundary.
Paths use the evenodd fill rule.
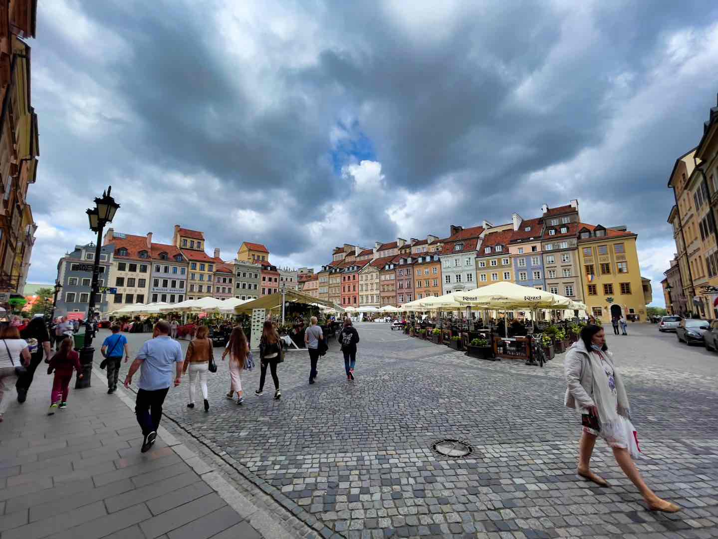
<path fill-rule="evenodd" d="M 107 395 L 99 371 L 47 416 L 52 377 L 41 370 L 27 402 L 12 403 L 0 423 L 0 539 L 294 536 L 258 531 L 256 507 L 228 504 L 203 478 L 213 466 L 166 430 L 141 454 L 133 395 Z"/>

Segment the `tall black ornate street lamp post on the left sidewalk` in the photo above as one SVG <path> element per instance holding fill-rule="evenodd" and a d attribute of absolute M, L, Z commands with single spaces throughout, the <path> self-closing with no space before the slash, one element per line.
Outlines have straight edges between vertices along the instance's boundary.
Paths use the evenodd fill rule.
<path fill-rule="evenodd" d="M 85 318 L 85 345 L 80 350 L 80 363 L 83 365 L 83 378 L 78 378 L 75 383 L 76 389 L 90 387 L 90 374 L 92 373 L 92 362 L 95 356 L 95 349 L 92 347 L 92 341 L 95 337 L 93 329 L 93 320 L 95 319 L 95 298 L 99 294 L 98 275 L 100 274 L 100 251 L 102 248 L 102 233 L 105 225 L 111 223 L 115 217 L 115 212 L 120 205 L 110 196 L 112 187 L 107 188 L 107 192 L 102 194 L 102 198 L 95 197 L 95 207 L 85 212 L 90 220 L 90 230 L 97 233 L 97 243 L 95 243 L 95 261 L 93 263 L 92 283 L 90 284 L 90 304 L 88 305 L 88 315 Z"/>

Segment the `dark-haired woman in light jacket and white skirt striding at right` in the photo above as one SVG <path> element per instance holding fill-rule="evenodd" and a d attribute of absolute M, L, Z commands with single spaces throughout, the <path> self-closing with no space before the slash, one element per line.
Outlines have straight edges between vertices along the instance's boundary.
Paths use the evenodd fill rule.
<path fill-rule="evenodd" d="M 613 357 L 600 326 L 586 326 L 564 360 L 568 388 L 565 404 L 582 413 L 583 433 L 579 443 L 579 476 L 601 487 L 608 483 L 590 469 L 597 437 L 613 450 L 617 464 L 643 496 L 648 510 L 676 512 L 681 508 L 661 500 L 643 482 L 633 457 L 638 456 L 638 439 L 630 422 L 630 406 L 623 379 L 613 364 Z"/>

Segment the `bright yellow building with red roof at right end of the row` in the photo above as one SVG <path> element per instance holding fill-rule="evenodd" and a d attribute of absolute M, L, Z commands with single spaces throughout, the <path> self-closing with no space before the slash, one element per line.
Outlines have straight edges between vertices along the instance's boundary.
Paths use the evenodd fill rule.
<path fill-rule="evenodd" d="M 634 233 L 601 225 L 578 225 L 584 303 L 590 314 L 644 322 L 645 296 Z"/>

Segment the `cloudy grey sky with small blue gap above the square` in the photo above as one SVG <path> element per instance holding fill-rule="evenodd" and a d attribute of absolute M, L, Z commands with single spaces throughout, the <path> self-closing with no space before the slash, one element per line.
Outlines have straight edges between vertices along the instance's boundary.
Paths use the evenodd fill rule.
<path fill-rule="evenodd" d="M 48 0 L 31 45 L 30 282 L 108 184 L 116 231 L 297 267 L 577 198 L 662 305 L 668 174 L 718 92 L 709 1 Z"/>

